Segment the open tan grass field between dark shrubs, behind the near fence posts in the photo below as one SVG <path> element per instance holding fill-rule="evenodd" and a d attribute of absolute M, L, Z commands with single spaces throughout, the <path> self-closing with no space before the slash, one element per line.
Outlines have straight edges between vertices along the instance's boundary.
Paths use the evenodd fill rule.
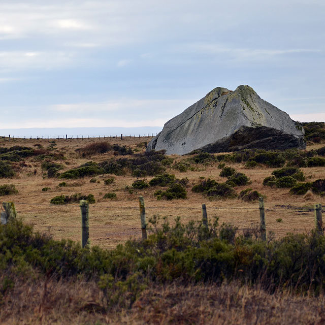
<path fill-rule="evenodd" d="M 126 145 L 133 149 L 145 150 L 137 144 L 144 141 L 150 141 L 150 138 L 120 138 L 108 139 L 105 141 L 111 144 L 118 143 Z M 47 148 L 52 139 L 32 139 L 8 141 L 8 138 L 1 140 L 0 147 L 28 146 L 35 148 L 40 144 Z M 53 152 L 64 155 L 64 160 L 57 160 L 63 164 L 65 170 L 78 167 L 87 161 L 104 161 L 114 157 L 113 152 L 96 154 L 83 157 L 75 150 L 86 146 L 89 143 L 103 141 L 103 139 L 68 139 L 55 140 L 56 147 Z M 40 147 L 39 146 L 39 147 Z M 307 147 L 307 150 L 317 149 L 324 144 L 313 144 Z M 127 156 L 123 156 L 127 157 Z M 183 159 L 179 156 L 172 156 L 174 160 Z M 15 163 L 17 167 L 17 176 L 13 178 L 3 178 L 0 184 L 15 184 L 18 193 L 9 196 L 2 196 L 4 202 L 12 201 L 15 203 L 16 211 L 19 217 L 23 218 L 25 223 L 34 224 L 34 229 L 40 232 L 48 232 L 54 239 L 70 238 L 74 241 L 81 240 L 81 213 L 78 204 L 51 205 L 51 198 L 64 194 L 72 195 L 82 193 L 85 195 L 93 194 L 96 203 L 89 205 L 90 211 L 90 241 L 92 245 L 99 245 L 103 248 L 113 248 L 119 243 L 125 242 L 130 237 L 140 238 L 140 215 L 138 197 L 141 195 L 145 199 L 147 218 L 159 214 L 174 219 L 180 216 L 183 222 L 188 220 L 200 220 L 202 216 L 201 205 L 207 205 L 208 217 L 218 216 L 219 222 L 231 223 L 238 226 L 239 229 L 250 228 L 258 225 L 259 212 L 258 203 L 247 203 L 239 199 L 228 199 L 209 201 L 200 193 L 191 191 L 191 187 L 198 183 L 200 177 L 212 178 L 217 182 L 224 182 L 225 178 L 219 176 L 220 169 L 218 163 L 212 163 L 208 166 L 198 165 L 195 170 L 179 172 L 168 168 L 167 173 L 175 174 L 177 178 L 187 177 L 189 183 L 187 186 L 187 199 L 181 200 L 156 200 L 153 196 L 157 188 L 148 187 L 143 190 L 131 190 L 132 183 L 136 180 L 129 174 L 115 176 L 114 182 L 109 185 L 104 184 L 104 179 L 110 175 L 88 176 L 81 179 L 63 180 L 58 178 L 48 178 L 42 171 L 42 161 L 36 157 L 24 158 L 25 166 L 21 163 Z M 241 190 L 251 187 L 258 192 L 266 195 L 266 226 L 267 232 L 274 232 L 275 237 L 280 237 L 288 232 L 304 233 L 314 228 L 314 213 L 312 206 L 315 203 L 325 204 L 325 198 L 311 194 L 310 196 L 294 196 L 289 194 L 288 188 L 276 188 L 264 186 L 263 179 L 271 176 L 275 168 L 255 167 L 247 169 L 243 163 L 227 164 L 234 167 L 238 172 L 246 174 L 251 183 L 249 185 L 237 186 L 235 190 L 239 193 Z M 34 171 L 36 170 L 36 175 Z M 306 181 L 314 181 L 325 177 L 325 167 L 301 168 L 306 176 Z M 91 178 L 96 178 L 95 183 L 91 183 Z M 147 177 L 149 181 L 152 177 Z M 62 181 L 67 183 L 65 187 L 59 187 Z M 125 189 L 125 187 L 128 188 Z M 42 188 L 50 187 L 48 191 L 42 191 Z M 106 192 L 115 192 L 116 199 L 104 199 Z M 281 222 L 276 220 L 281 218 Z"/>

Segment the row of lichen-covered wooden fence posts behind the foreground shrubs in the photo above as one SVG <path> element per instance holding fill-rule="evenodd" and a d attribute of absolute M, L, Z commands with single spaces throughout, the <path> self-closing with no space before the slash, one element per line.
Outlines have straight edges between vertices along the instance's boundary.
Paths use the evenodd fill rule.
<path fill-rule="evenodd" d="M 15 205 L 12 202 L 3 202 L 2 205 L 3 205 L 5 211 L 1 212 L 1 223 L 7 224 L 8 222 L 11 222 L 12 220 L 14 220 L 17 216 Z M 88 201 L 81 200 L 79 203 L 79 206 L 81 209 L 81 234 L 82 234 L 81 242 L 82 242 L 82 247 L 85 247 L 87 245 L 90 245 Z M 146 210 L 145 210 L 144 198 L 142 196 L 139 197 L 139 208 L 140 208 L 139 225 L 141 225 L 142 240 L 146 240 L 147 239 Z M 257 207 L 256 207 L 256 209 L 257 209 Z M 266 211 L 270 211 L 270 210 L 265 209 L 263 197 L 259 197 L 259 199 L 258 199 L 258 210 L 259 210 L 259 229 L 258 229 L 259 230 L 259 238 L 262 241 L 267 241 L 265 210 Z M 323 228 L 323 223 L 322 223 L 322 206 L 321 206 L 321 204 L 314 205 L 314 220 L 315 220 L 316 234 L 318 236 L 323 236 L 324 228 Z M 202 225 L 205 228 L 208 228 L 208 224 L 209 223 L 208 223 L 207 208 L 206 208 L 205 204 L 202 204 Z M 64 228 L 64 225 L 63 225 L 63 228 Z M 70 226 L 69 228 L 76 228 L 76 226 Z"/>

